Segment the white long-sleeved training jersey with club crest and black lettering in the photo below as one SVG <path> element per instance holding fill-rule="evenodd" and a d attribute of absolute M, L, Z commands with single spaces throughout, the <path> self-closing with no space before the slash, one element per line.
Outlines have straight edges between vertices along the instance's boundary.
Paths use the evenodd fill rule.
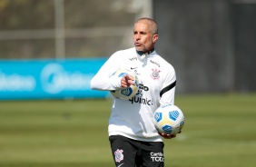
<path fill-rule="evenodd" d="M 140 88 L 130 100 L 113 97 L 109 135 L 123 135 L 144 142 L 162 142 L 162 137 L 153 125 L 153 113 L 161 104 L 174 104 L 176 75 L 172 65 L 155 51 L 144 58 L 134 47 L 118 51 L 95 74 L 91 81 L 92 89 L 110 91 L 121 87 L 121 80 L 111 77 L 121 68 L 137 75 Z"/>

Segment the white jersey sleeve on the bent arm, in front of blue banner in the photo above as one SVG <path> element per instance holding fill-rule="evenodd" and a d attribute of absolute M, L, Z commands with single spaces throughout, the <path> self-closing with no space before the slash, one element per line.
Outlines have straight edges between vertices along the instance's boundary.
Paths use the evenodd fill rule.
<path fill-rule="evenodd" d="M 122 55 L 116 52 L 103 64 L 91 80 L 92 89 L 111 91 L 121 87 L 121 79 L 113 75 L 119 69 L 121 58 Z"/>

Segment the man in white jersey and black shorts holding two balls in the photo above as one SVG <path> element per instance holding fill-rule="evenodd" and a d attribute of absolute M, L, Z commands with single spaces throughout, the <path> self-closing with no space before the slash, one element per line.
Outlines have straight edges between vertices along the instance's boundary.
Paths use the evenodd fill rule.
<path fill-rule="evenodd" d="M 133 27 L 133 48 L 114 53 L 95 74 L 92 89 L 116 90 L 134 84 L 133 76 L 121 80 L 111 77 L 118 69 L 136 74 L 140 88 L 128 101 L 113 98 L 109 120 L 109 140 L 116 166 L 162 167 L 162 137 L 175 135 L 158 133 L 153 125 L 153 113 L 161 105 L 174 104 L 176 75 L 171 64 L 154 50 L 158 40 L 157 24 L 151 18 L 137 20 Z"/>

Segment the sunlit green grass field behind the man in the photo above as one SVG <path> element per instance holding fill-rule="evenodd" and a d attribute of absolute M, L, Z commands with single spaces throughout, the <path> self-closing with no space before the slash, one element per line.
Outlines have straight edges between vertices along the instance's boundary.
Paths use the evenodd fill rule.
<path fill-rule="evenodd" d="M 0 102 L 1 167 L 113 167 L 110 100 Z M 180 95 L 166 167 L 254 167 L 256 94 Z"/>

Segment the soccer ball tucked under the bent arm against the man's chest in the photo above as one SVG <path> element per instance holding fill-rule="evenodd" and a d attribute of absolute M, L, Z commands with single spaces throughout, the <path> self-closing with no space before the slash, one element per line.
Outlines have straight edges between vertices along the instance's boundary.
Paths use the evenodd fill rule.
<path fill-rule="evenodd" d="M 123 78 L 123 76 L 130 74 L 134 77 L 134 83 L 135 85 L 131 85 L 128 88 L 120 88 L 117 90 L 110 91 L 110 93 L 113 95 L 113 97 L 116 97 L 121 100 L 129 100 L 131 99 L 139 90 L 139 79 L 138 77 L 133 74 L 130 70 L 120 69 L 116 71 L 113 75 L 118 78 Z"/>

